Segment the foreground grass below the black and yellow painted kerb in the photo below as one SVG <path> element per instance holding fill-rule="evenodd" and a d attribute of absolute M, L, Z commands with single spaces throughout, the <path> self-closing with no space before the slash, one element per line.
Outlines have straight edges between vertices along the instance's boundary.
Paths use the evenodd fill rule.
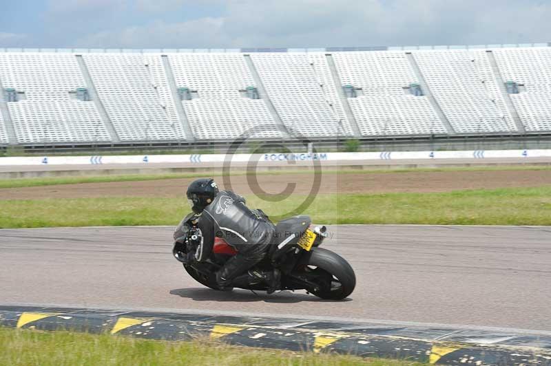
<path fill-rule="evenodd" d="M 403 360 L 0 327 L 0 365 L 420 365 Z"/>

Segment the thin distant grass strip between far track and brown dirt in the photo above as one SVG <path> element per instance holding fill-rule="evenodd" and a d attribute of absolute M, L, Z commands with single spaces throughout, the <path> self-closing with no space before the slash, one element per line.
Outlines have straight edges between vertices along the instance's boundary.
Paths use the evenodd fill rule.
<path fill-rule="evenodd" d="M 324 174 L 370 174 L 370 173 L 426 173 L 435 171 L 551 171 L 551 166 L 474 166 L 455 168 L 411 168 L 411 169 L 342 169 L 324 170 Z M 221 173 L 221 171 L 220 171 Z M 258 171 L 257 175 L 313 174 L 313 170 L 303 171 Z M 255 174 L 247 171 L 233 171 L 231 175 Z M 133 174 L 133 175 L 89 175 L 75 177 L 36 177 L 0 180 L 0 189 L 32 186 L 53 186 L 58 184 L 137 182 L 143 180 L 167 180 L 190 177 L 213 176 L 213 173 L 174 173 L 174 174 Z M 218 174 L 220 175 L 220 174 Z"/>

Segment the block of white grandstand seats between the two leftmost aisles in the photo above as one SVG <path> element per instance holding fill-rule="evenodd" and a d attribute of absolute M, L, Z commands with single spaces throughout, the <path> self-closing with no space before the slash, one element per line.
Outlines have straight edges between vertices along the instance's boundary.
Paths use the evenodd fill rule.
<path fill-rule="evenodd" d="M 110 140 L 94 103 L 71 98 L 86 86 L 73 54 L 0 53 L 0 79 L 24 93 L 7 103 L 19 143 Z"/>

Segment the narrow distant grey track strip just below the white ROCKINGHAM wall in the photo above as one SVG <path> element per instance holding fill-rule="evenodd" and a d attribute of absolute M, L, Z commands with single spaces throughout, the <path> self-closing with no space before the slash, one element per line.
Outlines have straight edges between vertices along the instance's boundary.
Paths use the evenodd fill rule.
<path fill-rule="evenodd" d="M 393 159 L 393 160 L 318 160 L 326 169 L 400 169 L 442 166 L 499 166 L 499 165 L 551 165 L 551 157 L 541 158 L 484 158 L 484 159 Z M 222 168 L 222 162 L 178 162 L 148 164 L 66 164 L 66 165 L 4 165 L 0 173 L 60 172 L 90 173 L 156 173 L 174 171 L 205 171 Z M 232 162 L 232 169 L 244 169 L 247 162 Z M 311 161 L 259 162 L 258 169 L 304 169 L 313 167 Z M 27 175 L 25 175 L 27 176 Z M 0 176 L 2 177 L 2 176 Z M 6 177 L 10 177 L 6 175 Z"/>

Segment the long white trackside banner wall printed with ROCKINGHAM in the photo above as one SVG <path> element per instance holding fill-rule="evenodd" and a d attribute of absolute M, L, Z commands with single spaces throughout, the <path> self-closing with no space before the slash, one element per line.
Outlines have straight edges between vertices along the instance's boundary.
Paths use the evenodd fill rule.
<path fill-rule="evenodd" d="M 309 160 L 410 160 L 410 159 L 486 159 L 551 157 L 547 150 L 470 150 L 470 151 L 379 151 L 371 153 L 263 153 L 263 154 L 192 154 L 192 155 L 87 155 L 32 156 L 0 158 L 8 165 L 85 165 L 85 164 L 160 164 L 211 162 L 288 162 Z"/>

